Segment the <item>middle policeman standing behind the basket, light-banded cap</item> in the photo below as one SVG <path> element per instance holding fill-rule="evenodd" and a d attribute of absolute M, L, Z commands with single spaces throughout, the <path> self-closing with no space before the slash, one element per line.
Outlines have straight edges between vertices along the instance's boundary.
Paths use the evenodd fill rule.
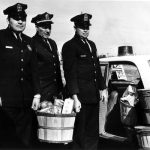
<path fill-rule="evenodd" d="M 52 101 L 54 97 L 61 98 L 63 83 L 60 71 L 60 61 L 56 42 L 50 38 L 51 18 L 53 14 L 47 12 L 32 18 L 36 34 L 32 42 L 38 58 L 38 74 L 41 85 L 41 101 Z"/>

